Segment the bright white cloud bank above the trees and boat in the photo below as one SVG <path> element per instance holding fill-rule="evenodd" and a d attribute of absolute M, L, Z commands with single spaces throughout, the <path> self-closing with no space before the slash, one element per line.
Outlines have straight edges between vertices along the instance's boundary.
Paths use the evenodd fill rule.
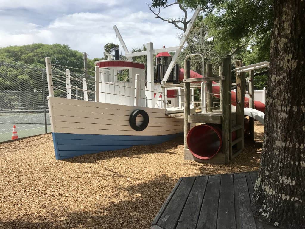
<path fill-rule="evenodd" d="M 4 5 L 12 5 L 9 4 L 12 2 L 16 1 L 4 0 Z M 21 5 L 30 7 L 29 5 L 34 5 L 34 2 L 41 6 L 43 5 L 41 2 L 45 1 L 22 1 Z M 55 5 L 59 2 L 63 1 L 52 1 Z M 74 2 L 80 2 L 80 0 Z M 117 4 L 118 1 L 90 0 L 90 2 Z M 46 4 L 48 5 L 49 2 Z M 88 3 L 86 2 L 86 4 Z M 144 3 L 142 4 L 144 5 Z M 35 7 L 39 8 L 37 5 Z M 143 8 L 147 10 L 145 6 Z M 181 11 L 177 7 L 172 7 L 172 11 L 167 11 L 167 14 L 169 13 L 178 17 Z M 115 24 L 129 50 L 132 47 L 142 46 L 146 42 L 153 42 L 155 48 L 161 48 L 163 45 L 176 46 L 180 42 L 176 38 L 176 34 L 182 32 L 172 24 L 155 19 L 148 10 L 147 12 L 143 10 L 134 12 L 133 7 L 128 5 L 113 7 L 106 12 L 66 13 L 58 15 L 46 25 L 20 20 L 17 16 L 1 17 L 0 15 L 0 20 L 6 20 L 5 23 L 0 24 L 0 46 L 2 47 L 38 42 L 60 43 L 67 44 L 72 49 L 81 52 L 85 51 L 90 58 L 102 57 L 104 45 L 108 42 L 117 42 L 113 31 Z"/>

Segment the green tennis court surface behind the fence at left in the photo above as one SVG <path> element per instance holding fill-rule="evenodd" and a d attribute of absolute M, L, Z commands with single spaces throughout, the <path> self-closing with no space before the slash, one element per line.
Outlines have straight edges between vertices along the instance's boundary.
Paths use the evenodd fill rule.
<path fill-rule="evenodd" d="M 45 133 L 44 113 L 1 112 L 0 111 L 0 143 L 11 140 L 13 125 L 19 138 Z M 49 114 L 47 114 L 47 132 L 51 132 Z"/>

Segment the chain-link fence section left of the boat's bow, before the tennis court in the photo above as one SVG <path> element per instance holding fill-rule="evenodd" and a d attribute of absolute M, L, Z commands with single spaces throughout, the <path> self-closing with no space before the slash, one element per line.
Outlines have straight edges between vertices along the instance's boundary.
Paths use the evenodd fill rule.
<path fill-rule="evenodd" d="M 45 69 L 0 62 L 0 142 L 51 132 Z"/>

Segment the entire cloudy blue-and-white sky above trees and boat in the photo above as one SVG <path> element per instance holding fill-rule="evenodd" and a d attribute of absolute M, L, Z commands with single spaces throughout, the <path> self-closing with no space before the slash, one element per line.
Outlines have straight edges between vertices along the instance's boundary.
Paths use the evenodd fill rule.
<path fill-rule="evenodd" d="M 180 30 L 156 19 L 146 5 L 150 0 L 0 2 L 0 47 L 60 43 L 87 52 L 92 59 L 103 56 L 106 43 L 117 42 L 113 25 L 117 25 L 129 50 L 146 42 L 153 42 L 154 48 L 179 44 L 176 35 Z M 179 17 L 182 11 L 174 5 L 161 10 L 160 16 Z"/>

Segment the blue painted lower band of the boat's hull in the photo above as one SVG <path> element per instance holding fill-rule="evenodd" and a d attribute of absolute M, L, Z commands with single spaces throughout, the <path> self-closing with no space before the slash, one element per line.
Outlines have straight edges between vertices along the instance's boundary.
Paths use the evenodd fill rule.
<path fill-rule="evenodd" d="M 160 144 L 182 133 L 160 136 L 123 136 L 96 134 L 52 133 L 56 160 L 84 154 L 113 151 L 135 145 Z"/>

